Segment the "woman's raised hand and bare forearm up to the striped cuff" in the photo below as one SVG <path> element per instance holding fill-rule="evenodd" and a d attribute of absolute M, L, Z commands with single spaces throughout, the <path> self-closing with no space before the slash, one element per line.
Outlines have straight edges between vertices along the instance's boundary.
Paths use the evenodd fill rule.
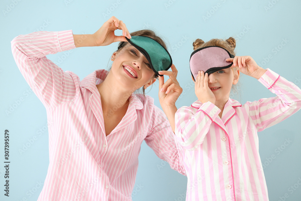
<path fill-rule="evenodd" d="M 115 30 L 122 30 L 122 36 L 116 36 Z M 113 42 L 127 41 L 127 38 L 132 38 L 129 30 L 123 21 L 118 20 L 112 16 L 107 20 L 99 30 L 93 34 L 74 35 L 74 44 L 76 47 L 88 47 L 88 46 L 107 46 Z"/>

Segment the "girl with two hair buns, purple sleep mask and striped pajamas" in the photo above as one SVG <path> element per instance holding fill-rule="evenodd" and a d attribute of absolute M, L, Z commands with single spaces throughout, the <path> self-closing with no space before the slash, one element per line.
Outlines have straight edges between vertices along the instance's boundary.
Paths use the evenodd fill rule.
<path fill-rule="evenodd" d="M 175 114 L 175 138 L 188 177 L 186 200 L 268 200 L 257 131 L 298 111 L 301 90 L 250 56 L 234 57 L 233 38 L 197 39 L 193 46 L 190 68 L 198 100 Z M 229 99 L 240 72 L 277 96 L 244 105 Z"/>

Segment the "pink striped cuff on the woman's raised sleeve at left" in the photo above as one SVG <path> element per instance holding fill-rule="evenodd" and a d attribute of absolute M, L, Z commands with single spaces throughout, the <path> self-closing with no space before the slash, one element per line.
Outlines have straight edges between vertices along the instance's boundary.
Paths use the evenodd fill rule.
<path fill-rule="evenodd" d="M 58 31 L 57 41 L 58 41 L 60 52 L 76 48 L 74 44 L 72 30 Z"/>

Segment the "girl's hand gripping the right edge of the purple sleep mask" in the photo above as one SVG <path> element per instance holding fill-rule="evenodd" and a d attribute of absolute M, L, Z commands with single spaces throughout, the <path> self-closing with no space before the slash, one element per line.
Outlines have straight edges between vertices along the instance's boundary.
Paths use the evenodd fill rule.
<path fill-rule="evenodd" d="M 258 66 L 250 56 L 235 56 L 234 58 L 226 59 L 226 61 L 233 62 L 232 67 L 238 67 L 237 69 L 240 72 L 256 79 L 259 79 L 266 72 L 266 70 Z"/>

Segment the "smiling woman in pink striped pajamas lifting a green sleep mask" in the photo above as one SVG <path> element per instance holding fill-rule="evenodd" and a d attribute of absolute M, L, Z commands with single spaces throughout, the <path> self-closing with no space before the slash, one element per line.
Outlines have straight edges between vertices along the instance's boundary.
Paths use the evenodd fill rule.
<path fill-rule="evenodd" d="M 116 29 L 123 36 L 115 36 Z M 163 41 L 142 31 L 164 46 Z M 15 61 L 44 104 L 49 130 L 49 167 L 38 200 L 131 200 L 143 140 L 160 159 L 182 174 L 174 133 L 165 115 L 143 94 L 155 81 L 149 61 L 134 46 L 125 24 L 111 17 L 91 35 L 72 30 L 34 32 L 13 39 Z M 75 47 L 106 46 L 121 41 L 111 70 L 96 70 L 82 81 L 64 72 L 47 54 Z M 159 98 L 174 130 L 175 100 L 182 92 L 177 71 L 163 71 Z M 164 83 L 164 84 L 163 84 Z M 169 93 L 171 92 L 171 93 Z"/>

